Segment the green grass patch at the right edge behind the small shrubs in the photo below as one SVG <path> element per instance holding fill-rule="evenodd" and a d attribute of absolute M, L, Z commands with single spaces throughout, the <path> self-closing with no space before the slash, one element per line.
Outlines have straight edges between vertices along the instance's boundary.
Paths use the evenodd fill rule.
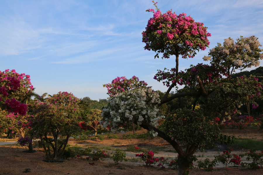
<path fill-rule="evenodd" d="M 263 150 L 263 141 L 254 139 L 236 139 L 235 143 L 245 149 Z"/>

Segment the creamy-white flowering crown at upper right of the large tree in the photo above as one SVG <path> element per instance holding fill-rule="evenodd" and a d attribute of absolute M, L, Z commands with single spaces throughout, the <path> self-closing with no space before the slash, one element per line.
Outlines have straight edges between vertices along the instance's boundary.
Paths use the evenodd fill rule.
<path fill-rule="evenodd" d="M 216 47 L 210 49 L 209 56 L 203 57 L 203 60 L 211 59 L 216 67 L 227 68 L 226 76 L 230 77 L 235 69 L 259 66 L 259 60 L 263 59 L 261 46 L 256 36 L 240 36 L 236 41 L 229 37 L 224 39 L 223 45 L 217 43 Z"/>

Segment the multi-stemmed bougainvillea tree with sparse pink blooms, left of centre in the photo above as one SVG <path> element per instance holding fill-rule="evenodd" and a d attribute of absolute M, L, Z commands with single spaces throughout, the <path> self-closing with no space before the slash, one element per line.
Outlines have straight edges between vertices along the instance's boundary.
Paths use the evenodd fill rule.
<path fill-rule="evenodd" d="M 81 117 L 77 114 L 79 99 L 71 93 L 59 92 L 47 102 L 36 102 L 27 121 L 34 136 L 40 139 L 48 160 L 56 162 L 63 155 L 70 136 L 81 129 L 78 123 Z M 52 133 L 53 139 L 47 137 L 48 133 Z"/>

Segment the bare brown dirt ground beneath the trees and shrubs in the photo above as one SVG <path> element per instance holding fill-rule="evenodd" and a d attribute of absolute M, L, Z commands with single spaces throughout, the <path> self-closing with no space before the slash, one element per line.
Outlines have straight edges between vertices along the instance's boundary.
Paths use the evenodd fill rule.
<path fill-rule="evenodd" d="M 145 133 L 146 130 L 136 131 L 137 135 Z M 127 132 L 125 134 L 129 134 Z M 247 129 L 246 133 L 243 131 L 236 131 L 231 129 L 225 129 L 222 133 L 227 135 L 235 135 L 236 137 L 242 136 L 242 138 L 255 138 L 255 139 L 263 139 L 263 132 L 259 132 L 257 129 Z M 75 139 L 70 139 L 69 144 L 71 146 L 81 146 L 83 148 L 92 147 L 102 148 L 104 150 L 108 150 L 108 154 L 114 153 L 116 149 L 120 149 L 122 152 L 126 153 L 127 162 L 122 162 L 119 165 L 115 165 L 113 160 L 110 158 L 103 159 L 103 161 L 95 161 L 94 165 L 90 165 L 86 159 L 72 159 L 69 158 L 65 160 L 63 163 L 49 163 L 42 161 L 44 159 L 44 153 L 37 151 L 35 153 L 23 153 L 22 151 L 25 148 L 13 145 L 2 145 L 0 146 L 0 175 L 3 174 L 24 174 L 23 171 L 26 168 L 30 168 L 31 172 L 28 174 L 32 175 L 62 175 L 62 174 L 78 174 L 78 175 L 106 175 L 106 174 L 114 174 L 114 175 L 123 175 L 123 174 L 143 174 L 143 175 L 152 175 L 152 174 L 178 174 L 177 169 L 160 169 L 158 167 L 152 166 L 144 166 L 143 162 L 135 157 L 134 152 L 128 152 L 126 149 L 128 146 L 140 146 L 140 148 L 146 150 L 153 150 L 155 153 L 155 157 L 165 157 L 169 161 L 177 157 L 177 153 L 174 153 L 174 149 L 161 138 L 155 138 L 147 140 L 144 139 L 122 139 L 122 134 L 117 134 L 120 139 L 104 139 L 103 141 L 97 140 L 85 140 L 79 141 Z M 106 138 L 106 137 L 105 137 Z M 17 138 L 16 138 L 17 139 Z M 3 139 L 6 140 L 6 139 Z M 0 141 L 3 141 L 0 140 Z M 8 141 L 10 141 L 8 139 Z M 159 150 L 154 150 L 156 148 L 162 148 Z M 222 151 L 226 149 L 224 145 L 218 145 L 217 148 L 212 150 L 205 150 L 203 152 L 198 151 L 195 155 L 199 160 L 205 160 L 209 158 L 210 160 L 214 159 L 214 155 L 222 154 Z M 40 150 L 37 148 L 37 150 Z M 232 154 L 241 154 L 245 153 L 248 150 L 236 149 L 232 152 Z M 84 157 L 85 158 L 85 157 Z M 135 160 L 135 161 L 134 161 Z M 242 158 L 244 161 L 245 158 Z M 195 162 L 194 164 L 197 164 Z M 225 168 L 222 164 L 217 164 L 214 167 L 213 172 L 205 172 L 203 169 L 193 169 L 190 170 L 190 174 L 244 174 L 244 175 L 262 175 L 263 169 L 260 170 L 250 170 L 242 167 L 234 167 L 231 164 Z"/>

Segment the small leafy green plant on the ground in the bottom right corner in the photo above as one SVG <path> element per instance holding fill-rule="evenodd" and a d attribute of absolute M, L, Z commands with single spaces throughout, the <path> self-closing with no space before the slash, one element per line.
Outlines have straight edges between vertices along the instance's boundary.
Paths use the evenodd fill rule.
<path fill-rule="evenodd" d="M 248 156 L 246 160 L 250 161 L 250 163 L 244 163 L 242 162 L 241 165 L 244 166 L 244 164 L 248 165 L 248 167 L 252 169 L 259 169 L 263 166 L 263 151 L 261 153 L 256 153 L 255 149 L 250 150 L 249 153 L 241 154 L 240 157 Z"/>

